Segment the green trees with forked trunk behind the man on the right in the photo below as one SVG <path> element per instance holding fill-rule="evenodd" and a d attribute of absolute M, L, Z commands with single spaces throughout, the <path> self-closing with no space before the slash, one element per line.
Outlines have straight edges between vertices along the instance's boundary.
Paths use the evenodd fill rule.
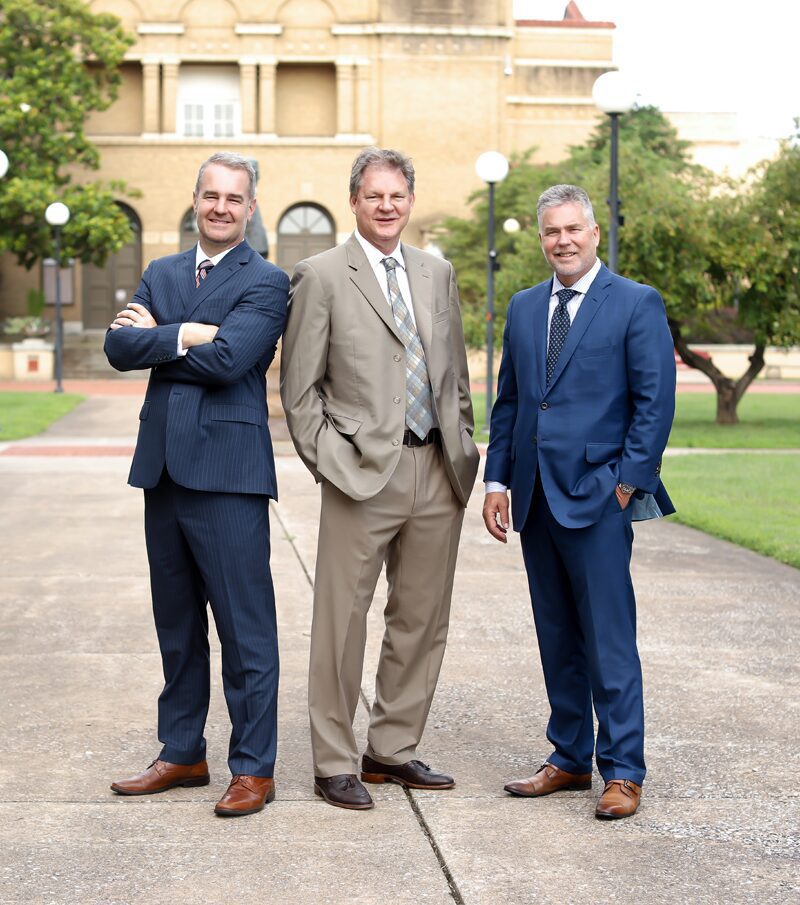
<path fill-rule="evenodd" d="M 538 241 L 536 200 L 557 182 L 582 185 L 595 199 L 599 253 L 605 254 L 608 208 L 609 127 L 603 122 L 588 142 L 570 149 L 558 165 L 536 166 L 532 151 L 511 161 L 496 189 L 499 223 L 514 217 L 521 232 L 498 231 L 497 327 L 502 334 L 508 298 L 550 276 Z M 751 177 L 751 188 L 728 187 L 690 163 L 687 143 L 655 108 L 632 111 L 620 121 L 619 271 L 661 292 L 676 349 L 687 365 L 707 374 L 717 391 L 717 421 L 735 423 L 736 405 L 764 363 L 768 342 L 797 341 L 797 266 L 800 264 L 800 150 L 787 143 L 780 158 Z M 755 181 L 753 181 L 755 179 Z M 462 287 L 468 342 L 485 342 L 487 192 L 470 197 L 473 216 L 442 224 L 441 245 L 456 265 Z M 794 270 L 792 269 L 794 268 Z M 724 375 L 713 360 L 692 352 L 686 325 L 721 305 L 739 304 L 739 321 L 755 336 L 745 374 Z"/>

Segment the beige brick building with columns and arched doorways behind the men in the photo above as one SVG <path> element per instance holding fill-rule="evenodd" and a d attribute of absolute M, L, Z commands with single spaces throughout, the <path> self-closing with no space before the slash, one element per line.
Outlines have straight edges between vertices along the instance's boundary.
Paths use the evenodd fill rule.
<path fill-rule="evenodd" d="M 614 26 L 515 21 L 511 0 L 94 0 L 136 35 L 116 103 L 92 116 L 101 176 L 141 198 L 124 208 L 135 240 L 104 268 L 76 267 L 73 331 L 104 328 L 154 257 L 195 241 L 191 190 L 216 150 L 257 161 L 269 257 L 282 267 L 343 241 L 357 151 L 397 147 L 417 169 L 407 239 L 466 210 L 475 160 L 536 145 L 556 160 L 599 114 Z M 257 241 L 257 240 L 256 240 Z M 41 284 L 3 262 L 0 316 Z"/>

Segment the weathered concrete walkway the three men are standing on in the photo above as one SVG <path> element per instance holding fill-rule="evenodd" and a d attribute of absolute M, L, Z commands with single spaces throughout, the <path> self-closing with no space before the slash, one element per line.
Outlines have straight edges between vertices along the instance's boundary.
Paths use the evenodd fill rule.
<path fill-rule="evenodd" d="M 277 800 L 213 816 L 229 732 L 216 644 L 211 785 L 114 796 L 109 783 L 158 750 L 142 499 L 125 483 L 140 402 L 93 396 L 41 438 L 0 449 L 0 903 L 798 901 L 800 572 L 668 520 L 636 529 L 649 775 L 634 818 L 594 819 L 599 777 L 592 792 L 541 800 L 503 792 L 548 753 L 547 702 L 518 543 L 486 534 L 479 490 L 420 751 L 456 788 L 374 787 L 364 813 L 316 799 L 305 683 L 319 495 L 280 430 Z"/>

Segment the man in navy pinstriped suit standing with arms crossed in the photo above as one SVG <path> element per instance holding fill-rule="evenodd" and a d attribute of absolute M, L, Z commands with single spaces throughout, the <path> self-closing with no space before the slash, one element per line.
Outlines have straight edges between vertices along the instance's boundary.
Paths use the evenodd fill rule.
<path fill-rule="evenodd" d="M 275 796 L 269 498 L 277 488 L 265 374 L 286 322 L 289 280 L 244 241 L 255 184 L 238 154 L 215 154 L 200 167 L 197 246 L 150 264 L 105 342 L 118 370 L 151 369 L 129 483 L 144 488 L 165 680 L 161 752 L 111 788 L 148 795 L 208 784 L 208 602 L 233 724 L 233 779 L 216 805 L 220 816 L 255 813 Z"/>

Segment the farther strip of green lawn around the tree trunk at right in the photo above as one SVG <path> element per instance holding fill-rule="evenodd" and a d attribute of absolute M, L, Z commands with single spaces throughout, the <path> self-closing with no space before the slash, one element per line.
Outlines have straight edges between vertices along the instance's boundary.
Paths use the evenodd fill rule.
<path fill-rule="evenodd" d="M 473 394 L 476 440 L 483 428 L 486 394 Z M 708 449 L 800 449 L 800 393 L 752 393 L 739 403 L 739 424 L 715 424 L 715 393 L 678 393 L 670 446 Z"/>

